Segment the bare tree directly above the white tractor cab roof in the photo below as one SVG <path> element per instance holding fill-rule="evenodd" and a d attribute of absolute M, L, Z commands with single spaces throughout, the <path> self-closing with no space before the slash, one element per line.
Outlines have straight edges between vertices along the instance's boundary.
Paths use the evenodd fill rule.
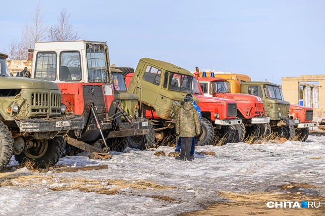
<path fill-rule="evenodd" d="M 73 31 L 73 25 L 70 23 L 70 15 L 65 7 L 62 7 L 60 15 L 57 17 L 57 23 L 51 26 L 48 31 L 50 41 L 75 41 L 81 36 Z"/>

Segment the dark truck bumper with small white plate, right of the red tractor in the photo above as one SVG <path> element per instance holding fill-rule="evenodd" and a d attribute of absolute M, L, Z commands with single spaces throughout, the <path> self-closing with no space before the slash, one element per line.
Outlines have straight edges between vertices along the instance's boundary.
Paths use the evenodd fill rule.
<path fill-rule="evenodd" d="M 148 122 L 119 123 L 118 129 L 110 131 L 107 138 L 137 136 L 149 134 Z"/>

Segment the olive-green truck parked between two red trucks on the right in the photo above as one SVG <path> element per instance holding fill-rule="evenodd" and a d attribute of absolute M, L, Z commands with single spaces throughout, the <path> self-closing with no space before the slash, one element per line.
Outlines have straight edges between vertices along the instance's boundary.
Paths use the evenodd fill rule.
<path fill-rule="evenodd" d="M 266 130 L 277 132 L 280 137 L 288 140 L 295 137 L 295 126 L 300 121 L 290 118 L 290 103 L 283 99 L 280 86 L 270 82 L 243 82 L 240 85 L 240 93 L 262 98 L 265 116 L 270 117 L 271 128 Z"/>

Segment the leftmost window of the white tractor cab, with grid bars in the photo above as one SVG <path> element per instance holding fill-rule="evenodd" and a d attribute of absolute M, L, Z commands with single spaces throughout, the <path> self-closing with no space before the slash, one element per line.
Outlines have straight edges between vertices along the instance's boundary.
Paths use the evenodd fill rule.
<path fill-rule="evenodd" d="M 35 78 L 41 80 L 55 80 L 56 53 L 38 52 L 36 58 Z"/>

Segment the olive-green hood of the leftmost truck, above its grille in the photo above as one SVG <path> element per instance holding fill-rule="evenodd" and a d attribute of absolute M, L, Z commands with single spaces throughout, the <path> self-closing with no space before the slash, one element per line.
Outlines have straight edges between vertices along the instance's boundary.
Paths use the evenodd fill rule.
<path fill-rule="evenodd" d="M 58 90 L 56 83 L 23 77 L 0 77 L 1 88 L 32 88 Z"/>

